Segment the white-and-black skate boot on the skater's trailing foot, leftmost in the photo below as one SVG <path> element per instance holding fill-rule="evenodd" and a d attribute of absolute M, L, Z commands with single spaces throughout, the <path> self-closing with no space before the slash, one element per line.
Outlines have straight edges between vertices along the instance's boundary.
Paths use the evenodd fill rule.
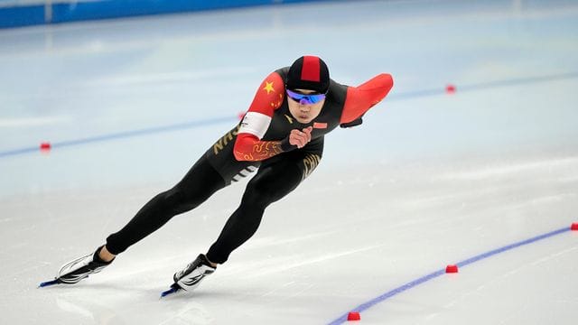
<path fill-rule="evenodd" d="M 74 284 L 89 277 L 90 274 L 96 274 L 102 271 L 103 268 L 114 261 L 113 259 L 110 262 L 105 262 L 98 257 L 98 253 L 100 253 L 102 247 L 103 246 L 98 247 L 94 253 L 79 257 L 62 265 L 61 270 L 56 275 L 56 281 L 58 281 L 58 283 Z"/>

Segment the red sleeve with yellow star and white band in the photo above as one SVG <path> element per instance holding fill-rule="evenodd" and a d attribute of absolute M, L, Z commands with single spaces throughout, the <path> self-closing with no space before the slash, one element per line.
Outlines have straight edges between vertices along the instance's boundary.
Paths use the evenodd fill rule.
<path fill-rule="evenodd" d="M 249 107 L 247 114 L 260 113 L 265 116 L 253 115 L 252 118 L 244 118 L 244 125 L 239 129 L 237 140 L 233 148 L 235 159 L 238 161 L 262 161 L 276 154 L 283 153 L 281 141 L 261 141 L 256 134 L 265 135 L 270 119 L 275 109 L 281 107 L 284 99 L 284 81 L 281 76 L 273 72 L 267 76 L 256 91 L 255 98 Z M 255 116 L 257 116 L 255 118 Z M 251 130 L 251 132 L 243 132 Z"/>

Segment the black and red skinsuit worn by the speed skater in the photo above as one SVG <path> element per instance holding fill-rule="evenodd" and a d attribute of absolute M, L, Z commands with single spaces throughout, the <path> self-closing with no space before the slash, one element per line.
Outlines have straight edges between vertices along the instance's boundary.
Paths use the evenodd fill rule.
<path fill-rule="evenodd" d="M 200 157 L 171 190 L 156 195 L 117 233 L 107 237 L 107 249 L 122 253 L 161 228 L 175 215 L 195 209 L 217 190 L 256 172 L 247 183 L 241 203 L 228 218 L 207 257 L 222 264 L 228 255 L 252 237 L 266 207 L 294 190 L 321 162 L 324 135 L 338 125 L 356 124 L 370 107 L 393 87 L 388 74 L 379 74 L 358 87 L 330 80 L 321 113 L 309 124 L 291 115 L 284 80 L 289 67 L 269 74 L 256 92 L 244 119 Z M 293 129 L 312 126 L 311 142 L 300 149 L 287 147 Z"/>

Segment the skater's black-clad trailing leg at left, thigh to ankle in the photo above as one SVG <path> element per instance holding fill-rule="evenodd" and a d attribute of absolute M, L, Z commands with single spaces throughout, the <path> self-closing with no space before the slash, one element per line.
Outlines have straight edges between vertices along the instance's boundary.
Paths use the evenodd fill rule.
<path fill-rule="evenodd" d="M 129 246 L 161 228 L 172 217 L 196 208 L 225 185 L 219 172 L 203 156 L 182 181 L 171 190 L 156 195 L 124 228 L 107 237 L 101 258 L 106 261 L 124 252 Z"/>

